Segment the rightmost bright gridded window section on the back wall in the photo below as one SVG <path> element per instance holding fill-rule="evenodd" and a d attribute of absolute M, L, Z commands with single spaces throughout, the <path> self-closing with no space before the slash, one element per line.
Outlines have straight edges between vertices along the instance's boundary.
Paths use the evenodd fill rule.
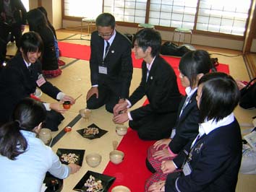
<path fill-rule="evenodd" d="M 250 0 L 200 0 L 197 30 L 244 35 Z"/>

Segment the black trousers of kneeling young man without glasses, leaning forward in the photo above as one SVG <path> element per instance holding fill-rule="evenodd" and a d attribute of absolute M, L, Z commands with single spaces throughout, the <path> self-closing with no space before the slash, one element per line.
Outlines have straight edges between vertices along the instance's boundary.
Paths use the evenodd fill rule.
<path fill-rule="evenodd" d="M 159 140 L 171 136 L 176 123 L 176 113 L 153 113 L 138 121 L 129 121 L 129 127 L 136 130 L 142 140 Z"/>

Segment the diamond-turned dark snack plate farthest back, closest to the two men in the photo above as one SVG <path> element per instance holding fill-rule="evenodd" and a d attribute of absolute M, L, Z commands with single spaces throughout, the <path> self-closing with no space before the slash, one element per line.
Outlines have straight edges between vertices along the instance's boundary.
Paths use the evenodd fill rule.
<path fill-rule="evenodd" d="M 97 139 L 106 134 L 108 131 L 99 128 L 93 123 L 87 128 L 77 130 L 77 132 L 87 139 Z"/>

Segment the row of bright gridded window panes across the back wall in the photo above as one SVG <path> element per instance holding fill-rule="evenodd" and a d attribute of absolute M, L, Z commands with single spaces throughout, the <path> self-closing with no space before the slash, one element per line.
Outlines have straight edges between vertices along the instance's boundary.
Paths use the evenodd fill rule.
<path fill-rule="evenodd" d="M 64 0 L 64 15 L 97 17 L 109 12 L 119 22 L 244 35 L 251 0 Z M 197 12 L 198 10 L 198 12 Z M 148 18 L 146 18 L 146 15 Z M 197 23 L 195 23 L 197 21 Z"/>

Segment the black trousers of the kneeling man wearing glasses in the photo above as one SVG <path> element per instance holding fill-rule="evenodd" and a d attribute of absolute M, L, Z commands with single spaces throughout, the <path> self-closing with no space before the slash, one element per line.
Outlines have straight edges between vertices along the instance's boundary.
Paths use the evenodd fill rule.
<path fill-rule="evenodd" d="M 98 109 L 106 105 L 106 110 L 113 113 L 113 108 L 117 102 L 119 102 L 119 95 L 111 90 L 110 87 L 103 84 L 98 86 L 98 98 L 96 98 L 96 95 L 93 95 L 87 101 L 87 108 Z"/>

